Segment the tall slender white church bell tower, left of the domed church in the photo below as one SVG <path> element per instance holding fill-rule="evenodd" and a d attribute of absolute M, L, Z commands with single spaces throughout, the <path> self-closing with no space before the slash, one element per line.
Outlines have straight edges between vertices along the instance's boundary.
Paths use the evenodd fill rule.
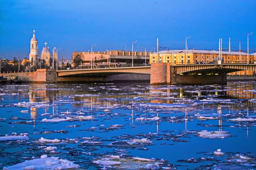
<path fill-rule="evenodd" d="M 38 60 L 39 60 L 38 40 L 35 37 L 35 30 L 34 30 L 33 37 L 30 41 L 29 62 L 31 62 L 32 65 L 37 65 Z"/>

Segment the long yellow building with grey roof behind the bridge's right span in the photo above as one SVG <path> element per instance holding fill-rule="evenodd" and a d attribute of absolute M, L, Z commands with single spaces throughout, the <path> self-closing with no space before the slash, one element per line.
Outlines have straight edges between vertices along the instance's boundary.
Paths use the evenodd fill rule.
<path fill-rule="evenodd" d="M 247 63 L 247 53 L 222 51 L 223 63 Z M 210 50 L 169 50 L 152 53 L 149 56 L 149 62 L 164 62 L 170 65 L 185 64 L 207 64 L 213 63 L 219 57 L 219 51 Z M 249 54 L 249 63 L 255 63 L 256 57 Z M 237 71 L 230 75 L 252 75 L 253 71 Z"/>

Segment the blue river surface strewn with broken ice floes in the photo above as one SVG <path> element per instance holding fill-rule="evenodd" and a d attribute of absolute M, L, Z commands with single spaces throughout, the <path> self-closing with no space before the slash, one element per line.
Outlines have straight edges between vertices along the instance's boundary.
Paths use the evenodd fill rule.
<path fill-rule="evenodd" d="M 256 168 L 256 82 L 0 90 L 0 169 Z"/>

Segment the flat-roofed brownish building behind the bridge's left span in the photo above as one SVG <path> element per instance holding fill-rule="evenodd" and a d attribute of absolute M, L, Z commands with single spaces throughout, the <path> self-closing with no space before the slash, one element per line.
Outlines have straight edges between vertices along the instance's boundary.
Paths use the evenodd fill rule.
<path fill-rule="evenodd" d="M 81 56 L 82 64 L 90 64 L 91 60 L 93 61 L 93 63 L 109 62 L 109 58 L 111 59 L 111 62 L 126 63 L 129 65 L 131 65 L 132 63 L 132 51 L 124 51 L 124 50 L 93 51 L 93 52 L 74 51 L 73 59 L 78 54 Z M 149 54 L 151 54 L 151 52 L 134 51 L 133 52 L 134 63 L 144 64 L 145 55 L 146 55 L 146 63 L 148 64 Z"/>

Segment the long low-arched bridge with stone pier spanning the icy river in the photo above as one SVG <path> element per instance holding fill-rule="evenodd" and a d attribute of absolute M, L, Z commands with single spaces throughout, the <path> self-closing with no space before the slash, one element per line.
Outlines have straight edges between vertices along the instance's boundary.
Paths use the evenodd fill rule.
<path fill-rule="evenodd" d="M 62 78 L 64 81 L 68 81 L 71 77 L 87 77 L 88 81 L 104 81 L 105 79 L 100 78 L 118 74 L 150 74 L 150 83 L 153 85 L 175 83 L 227 84 L 227 73 L 242 70 L 256 71 L 256 64 L 221 63 L 170 65 L 170 63 L 152 63 L 151 66 L 142 67 L 59 70 L 56 71 L 56 74 L 59 80 Z"/>

